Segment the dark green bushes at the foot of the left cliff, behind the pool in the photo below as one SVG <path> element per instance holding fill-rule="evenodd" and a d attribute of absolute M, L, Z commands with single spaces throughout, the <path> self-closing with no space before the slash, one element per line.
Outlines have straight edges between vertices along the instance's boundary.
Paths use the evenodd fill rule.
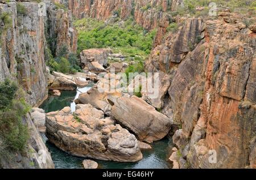
<path fill-rule="evenodd" d="M 55 58 L 53 58 L 51 50 L 46 49 L 46 62 L 51 72 L 58 71 L 64 74 L 74 74 L 81 71 L 77 55 L 68 53 L 67 46 L 65 45 L 60 48 L 59 54 Z"/>

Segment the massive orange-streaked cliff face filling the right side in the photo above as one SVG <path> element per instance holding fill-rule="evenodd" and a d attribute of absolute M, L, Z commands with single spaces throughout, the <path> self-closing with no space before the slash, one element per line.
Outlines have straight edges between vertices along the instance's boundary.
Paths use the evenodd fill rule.
<path fill-rule="evenodd" d="M 256 34 L 246 20 L 256 22 L 228 12 L 186 19 L 146 62 L 146 70 L 170 75 L 162 113 L 182 124 L 173 139 L 192 168 L 255 168 Z"/>

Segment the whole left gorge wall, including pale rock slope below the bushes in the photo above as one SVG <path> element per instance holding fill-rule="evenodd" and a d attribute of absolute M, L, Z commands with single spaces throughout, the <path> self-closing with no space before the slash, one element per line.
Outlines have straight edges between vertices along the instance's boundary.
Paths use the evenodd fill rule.
<path fill-rule="evenodd" d="M 0 1 L 0 81 L 9 78 L 19 84 L 31 106 L 40 105 L 48 96 L 46 56 L 49 48 L 57 54 L 61 46 L 76 52 L 77 33 L 72 28 L 71 15 L 59 10 L 51 1 Z M 40 10 L 46 14 L 40 14 Z M 47 38 L 51 43 L 47 44 Z M 18 153 L 14 162 L 1 158 L 2 168 L 54 168 L 51 155 L 43 143 L 30 114 L 23 119 L 30 128 L 26 155 Z M 46 162 L 40 158 L 46 152 Z M 30 153 L 33 151 L 34 153 Z M 31 165 L 31 161 L 33 162 Z"/>

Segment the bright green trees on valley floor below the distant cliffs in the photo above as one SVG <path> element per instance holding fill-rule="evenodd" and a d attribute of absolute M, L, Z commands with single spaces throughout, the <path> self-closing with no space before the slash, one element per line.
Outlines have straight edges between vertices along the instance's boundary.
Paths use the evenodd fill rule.
<path fill-rule="evenodd" d="M 103 21 L 85 18 L 77 20 L 75 27 L 79 31 L 78 53 L 84 49 L 109 47 L 115 53 L 144 58 L 150 54 L 155 37 L 155 31 L 147 32 L 135 24 L 133 19 L 127 20 L 123 25 L 106 25 Z"/>

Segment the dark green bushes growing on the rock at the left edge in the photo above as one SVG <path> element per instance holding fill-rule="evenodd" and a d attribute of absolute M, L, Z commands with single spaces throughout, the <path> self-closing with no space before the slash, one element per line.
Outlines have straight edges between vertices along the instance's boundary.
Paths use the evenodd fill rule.
<path fill-rule="evenodd" d="M 6 79 L 0 83 L 0 154 L 9 157 L 10 151 L 23 151 L 29 138 L 23 117 L 31 107 L 24 100 L 24 91 Z"/>

